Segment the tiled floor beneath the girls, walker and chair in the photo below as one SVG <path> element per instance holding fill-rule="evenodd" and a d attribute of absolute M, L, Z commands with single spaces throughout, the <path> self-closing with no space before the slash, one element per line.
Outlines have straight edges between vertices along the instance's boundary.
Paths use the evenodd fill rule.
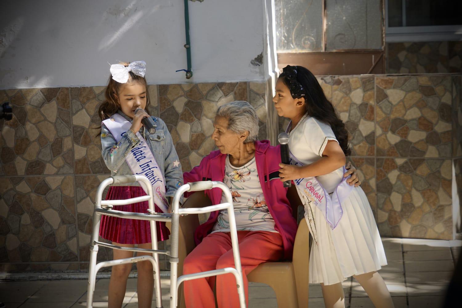
<path fill-rule="evenodd" d="M 396 308 L 438 308 L 444 298 L 461 241 L 383 238 L 389 265 L 380 271 Z M 95 286 L 94 307 L 107 307 L 109 279 Z M 86 280 L 1 282 L 0 302 L 6 308 L 85 307 Z M 168 307 L 170 280 L 162 279 L 164 307 Z M 349 278 L 343 283 L 347 308 L 374 307 L 363 288 Z M 136 278 L 129 278 L 123 307 L 138 307 Z M 155 307 L 153 302 L 152 307 Z M 310 308 L 324 307 L 319 284 L 310 285 Z M 250 308 L 277 307 L 274 291 L 250 284 Z"/>

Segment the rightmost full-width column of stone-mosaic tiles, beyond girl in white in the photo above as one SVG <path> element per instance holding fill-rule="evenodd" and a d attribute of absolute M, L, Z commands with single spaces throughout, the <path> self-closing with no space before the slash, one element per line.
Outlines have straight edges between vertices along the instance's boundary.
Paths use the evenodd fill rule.
<path fill-rule="evenodd" d="M 451 77 L 377 77 L 376 103 L 381 234 L 450 239 Z"/>

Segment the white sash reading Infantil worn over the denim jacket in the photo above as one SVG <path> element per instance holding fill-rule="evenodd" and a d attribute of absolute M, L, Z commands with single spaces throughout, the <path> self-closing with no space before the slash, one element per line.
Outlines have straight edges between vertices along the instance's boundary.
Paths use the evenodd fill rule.
<path fill-rule="evenodd" d="M 109 119 L 104 120 L 103 123 L 114 138 L 116 138 L 117 142 L 122 139 L 123 135 L 127 133 L 132 125 L 119 114 L 112 115 Z M 140 139 L 140 143 L 128 153 L 125 160 L 134 175 L 144 175 L 151 181 L 154 190 L 154 202 L 164 213 L 167 213 L 169 203 L 165 199 L 165 180 L 162 171 L 159 169 L 151 149 L 146 145 L 146 141 L 140 132 L 136 133 L 136 136 Z M 145 184 L 143 182 L 139 183 L 147 194 Z"/>

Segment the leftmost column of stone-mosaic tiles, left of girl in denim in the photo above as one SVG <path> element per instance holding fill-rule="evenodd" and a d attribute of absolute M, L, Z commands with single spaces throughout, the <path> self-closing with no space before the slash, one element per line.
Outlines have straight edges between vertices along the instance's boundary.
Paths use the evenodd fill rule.
<path fill-rule="evenodd" d="M 4 271 L 78 268 L 69 94 L 68 88 L 0 91 L 15 115 L 1 121 L 0 258 L 21 262 L 2 263 Z"/>

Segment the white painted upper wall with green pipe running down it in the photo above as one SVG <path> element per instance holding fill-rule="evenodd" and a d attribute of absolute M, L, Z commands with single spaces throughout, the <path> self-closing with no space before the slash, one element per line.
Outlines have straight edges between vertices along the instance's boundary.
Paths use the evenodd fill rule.
<path fill-rule="evenodd" d="M 263 1 L 188 2 L 192 79 L 183 0 L 2 1 L 0 89 L 105 85 L 118 60 L 145 60 L 149 84 L 264 80 Z"/>

